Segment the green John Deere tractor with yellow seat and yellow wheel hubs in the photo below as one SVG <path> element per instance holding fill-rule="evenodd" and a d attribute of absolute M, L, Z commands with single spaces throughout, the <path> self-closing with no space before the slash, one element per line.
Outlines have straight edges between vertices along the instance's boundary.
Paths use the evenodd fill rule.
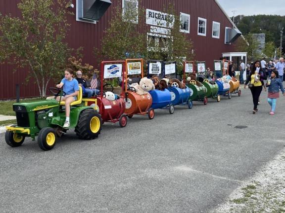
<path fill-rule="evenodd" d="M 53 148 L 57 137 L 66 134 L 66 131 L 75 128 L 80 139 L 91 140 L 98 137 L 101 131 L 101 116 L 92 106 L 87 106 L 96 99 L 82 99 L 82 88 L 79 87 L 77 100 L 70 105 L 70 127 L 63 128 L 65 121 L 64 102 L 54 99 L 31 103 L 13 104 L 16 112 L 17 125 L 7 126 L 5 141 L 12 147 L 20 146 L 26 137 L 35 141 L 43 150 Z M 49 88 L 54 96 L 65 95 L 58 88 Z"/>

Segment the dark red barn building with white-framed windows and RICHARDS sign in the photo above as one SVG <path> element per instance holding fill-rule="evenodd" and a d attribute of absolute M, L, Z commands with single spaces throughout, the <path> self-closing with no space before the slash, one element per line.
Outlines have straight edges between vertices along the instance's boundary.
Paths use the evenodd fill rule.
<path fill-rule="evenodd" d="M 69 16 L 68 22 L 71 29 L 68 32 L 67 42 L 72 48 L 84 47 L 85 63 L 96 66 L 93 54 L 94 47 L 100 47 L 104 36 L 103 31 L 113 18 L 112 11 L 116 7 L 124 7 L 129 3 L 137 4 L 138 0 L 72 0 L 74 7 L 67 8 L 76 16 Z M 0 13 L 2 15 L 12 14 L 20 16 L 17 3 L 20 0 L 0 0 Z M 154 40 L 159 40 L 161 26 L 156 26 L 156 19 L 163 19 L 165 15 L 163 7 L 173 2 L 175 10 L 180 14 L 181 33 L 186 34 L 193 41 L 195 60 L 206 61 L 206 66 L 213 70 L 213 61 L 221 58 L 222 53 L 234 52 L 231 38 L 237 37 L 235 30 L 229 32 L 226 29 L 236 28 L 231 19 L 227 16 L 221 5 L 216 0 L 142 0 L 142 7 L 146 8 L 145 22 L 147 33 Z M 98 3 L 106 3 L 103 11 L 95 13 L 94 8 Z M 110 6 L 109 6 L 109 5 Z M 109 6 L 109 7 L 108 7 Z M 92 10 L 93 9 L 93 10 Z M 94 12 L 95 16 L 90 12 Z M 99 17 L 96 16 L 99 14 Z M 100 14 L 102 15 L 100 17 Z M 95 18 L 94 18 L 95 17 Z M 98 20 L 98 21 L 92 21 Z M 163 28 L 162 28 L 163 31 Z M 234 34 L 234 36 L 233 36 Z M 228 42 L 227 42 L 228 41 Z M 119 60 L 119 59 L 118 59 Z M 13 66 L 7 63 L 0 65 L 0 100 L 14 99 L 16 97 L 15 85 L 20 85 L 20 97 L 39 96 L 38 87 L 34 81 L 23 84 L 29 68 L 13 72 Z"/>

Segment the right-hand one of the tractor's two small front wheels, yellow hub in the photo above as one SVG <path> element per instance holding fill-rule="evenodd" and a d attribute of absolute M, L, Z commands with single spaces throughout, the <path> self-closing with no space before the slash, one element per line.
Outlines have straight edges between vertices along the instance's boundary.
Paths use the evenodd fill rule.
<path fill-rule="evenodd" d="M 56 132 L 51 127 L 44 127 L 38 135 L 38 144 L 44 151 L 53 148 L 56 142 Z"/>

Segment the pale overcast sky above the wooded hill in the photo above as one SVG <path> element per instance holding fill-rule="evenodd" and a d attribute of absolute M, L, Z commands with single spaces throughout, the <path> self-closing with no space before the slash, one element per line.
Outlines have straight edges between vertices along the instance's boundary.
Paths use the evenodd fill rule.
<path fill-rule="evenodd" d="M 285 0 L 217 0 L 232 17 L 236 15 L 282 15 L 285 16 Z"/>

